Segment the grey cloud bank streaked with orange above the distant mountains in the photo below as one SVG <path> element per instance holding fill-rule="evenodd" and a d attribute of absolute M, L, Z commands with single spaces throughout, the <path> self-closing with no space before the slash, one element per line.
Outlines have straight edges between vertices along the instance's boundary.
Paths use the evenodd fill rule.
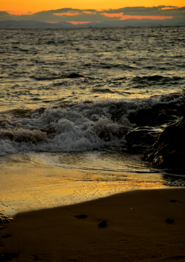
<path fill-rule="evenodd" d="M 166 8 L 166 9 L 162 9 Z M 62 22 L 62 21 L 116 21 L 120 20 L 121 13 L 124 15 L 142 15 L 142 16 L 173 16 L 174 18 L 185 17 L 185 7 L 176 6 L 153 6 L 153 7 L 124 7 L 119 9 L 108 9 L 97 11 L 95 9 L 73 9 L 73 8 L 61 8 L 56 10 L 41 11 L 34 14 L 26 15 L 14 15 L 5 11 L 0 11 L 0 21 L 5 20 L 35 20 L 39 22 Z M 86 13 L 87 12 L 87 13 Z M 29 13 L 29 12 L 28 12 Z M 70 13 L 71 15 L 66 15 Z M 103 13 L 108 15 L 120 13 L 120 17 L 107 17 Z M 60 14 L 60 15 L 57 15 Z M 185 21 L 184 21 L 185 24 Z"/>

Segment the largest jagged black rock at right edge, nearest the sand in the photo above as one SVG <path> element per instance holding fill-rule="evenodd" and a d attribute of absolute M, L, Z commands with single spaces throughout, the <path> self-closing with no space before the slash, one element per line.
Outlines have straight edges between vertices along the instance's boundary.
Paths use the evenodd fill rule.
<path fill-rule="evenodd" d="M 145 161 L 159 168 L 184 169 L 185 158 L 185 116 L 167 126 L 156 142 L 144 155 Z"/>

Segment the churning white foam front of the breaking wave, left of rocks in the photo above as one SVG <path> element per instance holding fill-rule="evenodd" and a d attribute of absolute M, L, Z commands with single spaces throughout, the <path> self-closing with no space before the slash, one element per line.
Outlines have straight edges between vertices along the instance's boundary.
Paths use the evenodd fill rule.
<path fill-rule="evenodd" d="M 133 127 L 127 118 L 119 123 L 107 117 L 94 120 L 74 111 L 51 107 L 37 119 L 4 119 L 0 154 L 22 150 L 84 151 L 121 145 L 125 144 L 124 135 Z"/>

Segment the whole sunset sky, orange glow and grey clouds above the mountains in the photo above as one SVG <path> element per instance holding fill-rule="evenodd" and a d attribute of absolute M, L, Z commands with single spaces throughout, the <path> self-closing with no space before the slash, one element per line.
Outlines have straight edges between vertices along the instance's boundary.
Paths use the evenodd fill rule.
<path fill-rule="evenodd" d="M 129 6 L 129 7 L 128 7 Z M 185 16 L 184 0 L 1 0 L 0 21 L 36 20 L 56 23 L 102 22 L 129 18 L 171 19 Z"/>

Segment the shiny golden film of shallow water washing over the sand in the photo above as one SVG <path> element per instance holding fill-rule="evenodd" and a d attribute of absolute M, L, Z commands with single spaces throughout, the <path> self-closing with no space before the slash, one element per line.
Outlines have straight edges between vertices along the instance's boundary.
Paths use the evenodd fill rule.
<path fill-rule="evenodd" d="M 127 190 L 166 187 L 159 173 L 61 168 L 18 155 L 4 157 L 2 162 L 0 211 L 8 215 L 79 203 Z"/>

